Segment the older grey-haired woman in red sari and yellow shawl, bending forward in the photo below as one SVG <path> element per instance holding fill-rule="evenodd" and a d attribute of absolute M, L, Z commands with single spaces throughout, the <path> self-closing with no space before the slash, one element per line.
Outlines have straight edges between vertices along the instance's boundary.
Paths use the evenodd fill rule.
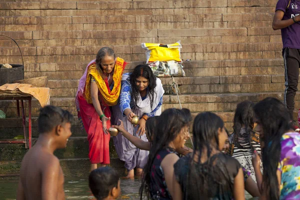
<path fill-rule="evenodd" d="M 102 47 L 79 80 L 76 94 L 78 119 L 88 140 L 91 170 L 109 164 L 110 106 L 117 103 L 122 73 L 127 63 L 115 57 L 113 50 Z M 81 126 L 82 127 L 82 126 Z"/>

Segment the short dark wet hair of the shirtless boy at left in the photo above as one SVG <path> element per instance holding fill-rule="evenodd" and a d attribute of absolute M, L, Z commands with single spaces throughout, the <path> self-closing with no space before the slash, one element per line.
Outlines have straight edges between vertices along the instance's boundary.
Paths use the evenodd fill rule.
<path fill-rule="evenodd" d="M 70 122 L 73 115 L 60 107 L 46 105 L 39 109 L 37 129 L 39 133 L 50 132 L 57 125 Z"/>

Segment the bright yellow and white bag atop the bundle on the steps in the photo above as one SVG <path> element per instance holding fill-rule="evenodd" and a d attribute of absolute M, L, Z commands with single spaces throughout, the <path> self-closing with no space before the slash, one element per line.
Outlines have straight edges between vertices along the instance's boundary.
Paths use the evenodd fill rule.
<path fill-rule="evenodd" d="M 182 62 L 180 59 L 180 40 L 172 44 L 160 43 L 141 43 L 141 47 L 146 49 L 146 58 L 148 62 L 175 60 Z"/>

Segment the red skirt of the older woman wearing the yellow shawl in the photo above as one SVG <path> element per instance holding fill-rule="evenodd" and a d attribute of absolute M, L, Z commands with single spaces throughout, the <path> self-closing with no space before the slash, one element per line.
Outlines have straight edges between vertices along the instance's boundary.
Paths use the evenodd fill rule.
<path fill-rule="evenodd" d="M 83 126 L 87 132 L 88 157 L 92 164 L 109 164 L 109 140 L 110 134 L 105 134 L 102 128 L 102 121 L 99 118 L 93 104 L 86 102 L 82 95 L 78 95 L 79 109 L 78 116 L 81 116 Z M 111 116 L 108 106 L 101 105 L 106 117 Z M 107 129 L 110 127 L 110 120 L 107 121 Z"/>

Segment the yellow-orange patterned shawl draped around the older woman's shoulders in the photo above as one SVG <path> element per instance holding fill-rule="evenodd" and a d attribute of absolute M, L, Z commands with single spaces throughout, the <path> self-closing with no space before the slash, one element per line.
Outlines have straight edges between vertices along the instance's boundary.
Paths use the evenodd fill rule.
<path fill-rule="evenodd" d="M 107 78 L 103 80 L 99 70 L 97 69 L 96 63 L 93 62 L 89 65 L 86 75 L 86 81 L 85 81 L 85 87 L 84 87 L 84 98 L 87 101 L 87 103 L 92 103 L 91 100 L 91 94 L 90 94 L 90 79 L 91 76 L 95 79 L 99 91 L 101 93 L 101 99 L 102 103 L 112 106 L 117 103 L 117 99 L 120 95 L 121 90 L 121 79 L 122 79 L 122 73 L 125 68 L 125 65 L 127 63 L 120 57 L 116 58 L 115 64 L 114 64 L 114 72 L 113 72 L 113 81 L 114 85 L 112 90 L 109 89 Z"/>

